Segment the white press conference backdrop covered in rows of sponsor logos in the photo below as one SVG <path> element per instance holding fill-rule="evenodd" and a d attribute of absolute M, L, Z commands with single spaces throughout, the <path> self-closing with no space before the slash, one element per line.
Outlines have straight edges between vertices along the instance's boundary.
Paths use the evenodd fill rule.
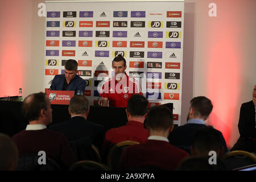
<path fill-rule="evenodd" d="M 172 102 L 180 125 L 184 1 L 46 1 L 46 7 L 44 88 L 75 59 L 93 105 L 121 53 L 149 106 Z"/>

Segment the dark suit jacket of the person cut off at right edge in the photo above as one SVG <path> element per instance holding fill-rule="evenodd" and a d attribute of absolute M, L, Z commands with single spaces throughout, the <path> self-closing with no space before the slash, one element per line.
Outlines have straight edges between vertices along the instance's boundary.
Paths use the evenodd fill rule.
<path fill-rule="evenodd" d="M 240 138 L 256 138 L 255 107 L 253 101 L 242 104 L 240 109 L 238 130 L 240 133 Z"/>

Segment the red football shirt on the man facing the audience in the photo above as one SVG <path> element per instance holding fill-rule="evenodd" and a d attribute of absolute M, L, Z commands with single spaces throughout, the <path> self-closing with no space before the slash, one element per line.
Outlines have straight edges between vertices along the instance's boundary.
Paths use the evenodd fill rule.
<path fill-rule="evenodd" d="M 127 107 L 127 102 L 134 94 L 142 95 L 141 85 L 133 77 L 125 73 L 121 81 L 115 80 L 115 77 L 109 78 L 100 91 L 100 96 L 109 99 L 110 107 Z"/>

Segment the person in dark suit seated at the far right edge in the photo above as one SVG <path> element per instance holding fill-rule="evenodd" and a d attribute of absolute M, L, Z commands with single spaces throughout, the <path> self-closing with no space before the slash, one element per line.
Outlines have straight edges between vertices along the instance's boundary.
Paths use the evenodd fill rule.
<path fill-rule="evenodd" d="M 230 151 L 256 152 L 256 85 L 253 89 L 253 100 L 241 106 L 238 130 L 240 138 Z"/>

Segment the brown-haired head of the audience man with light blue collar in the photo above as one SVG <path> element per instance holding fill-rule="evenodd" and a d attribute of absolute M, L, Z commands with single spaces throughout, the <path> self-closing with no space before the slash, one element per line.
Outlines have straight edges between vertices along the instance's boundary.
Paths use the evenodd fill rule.
<path fill-rule="evenodd" d="M 207 119 L 213 109 L 212 102 L 209 98 L 204 96 L 194 97 L 190 101 L 191 108 L 193 108 L 196 117 L 203 117 Z"/>

